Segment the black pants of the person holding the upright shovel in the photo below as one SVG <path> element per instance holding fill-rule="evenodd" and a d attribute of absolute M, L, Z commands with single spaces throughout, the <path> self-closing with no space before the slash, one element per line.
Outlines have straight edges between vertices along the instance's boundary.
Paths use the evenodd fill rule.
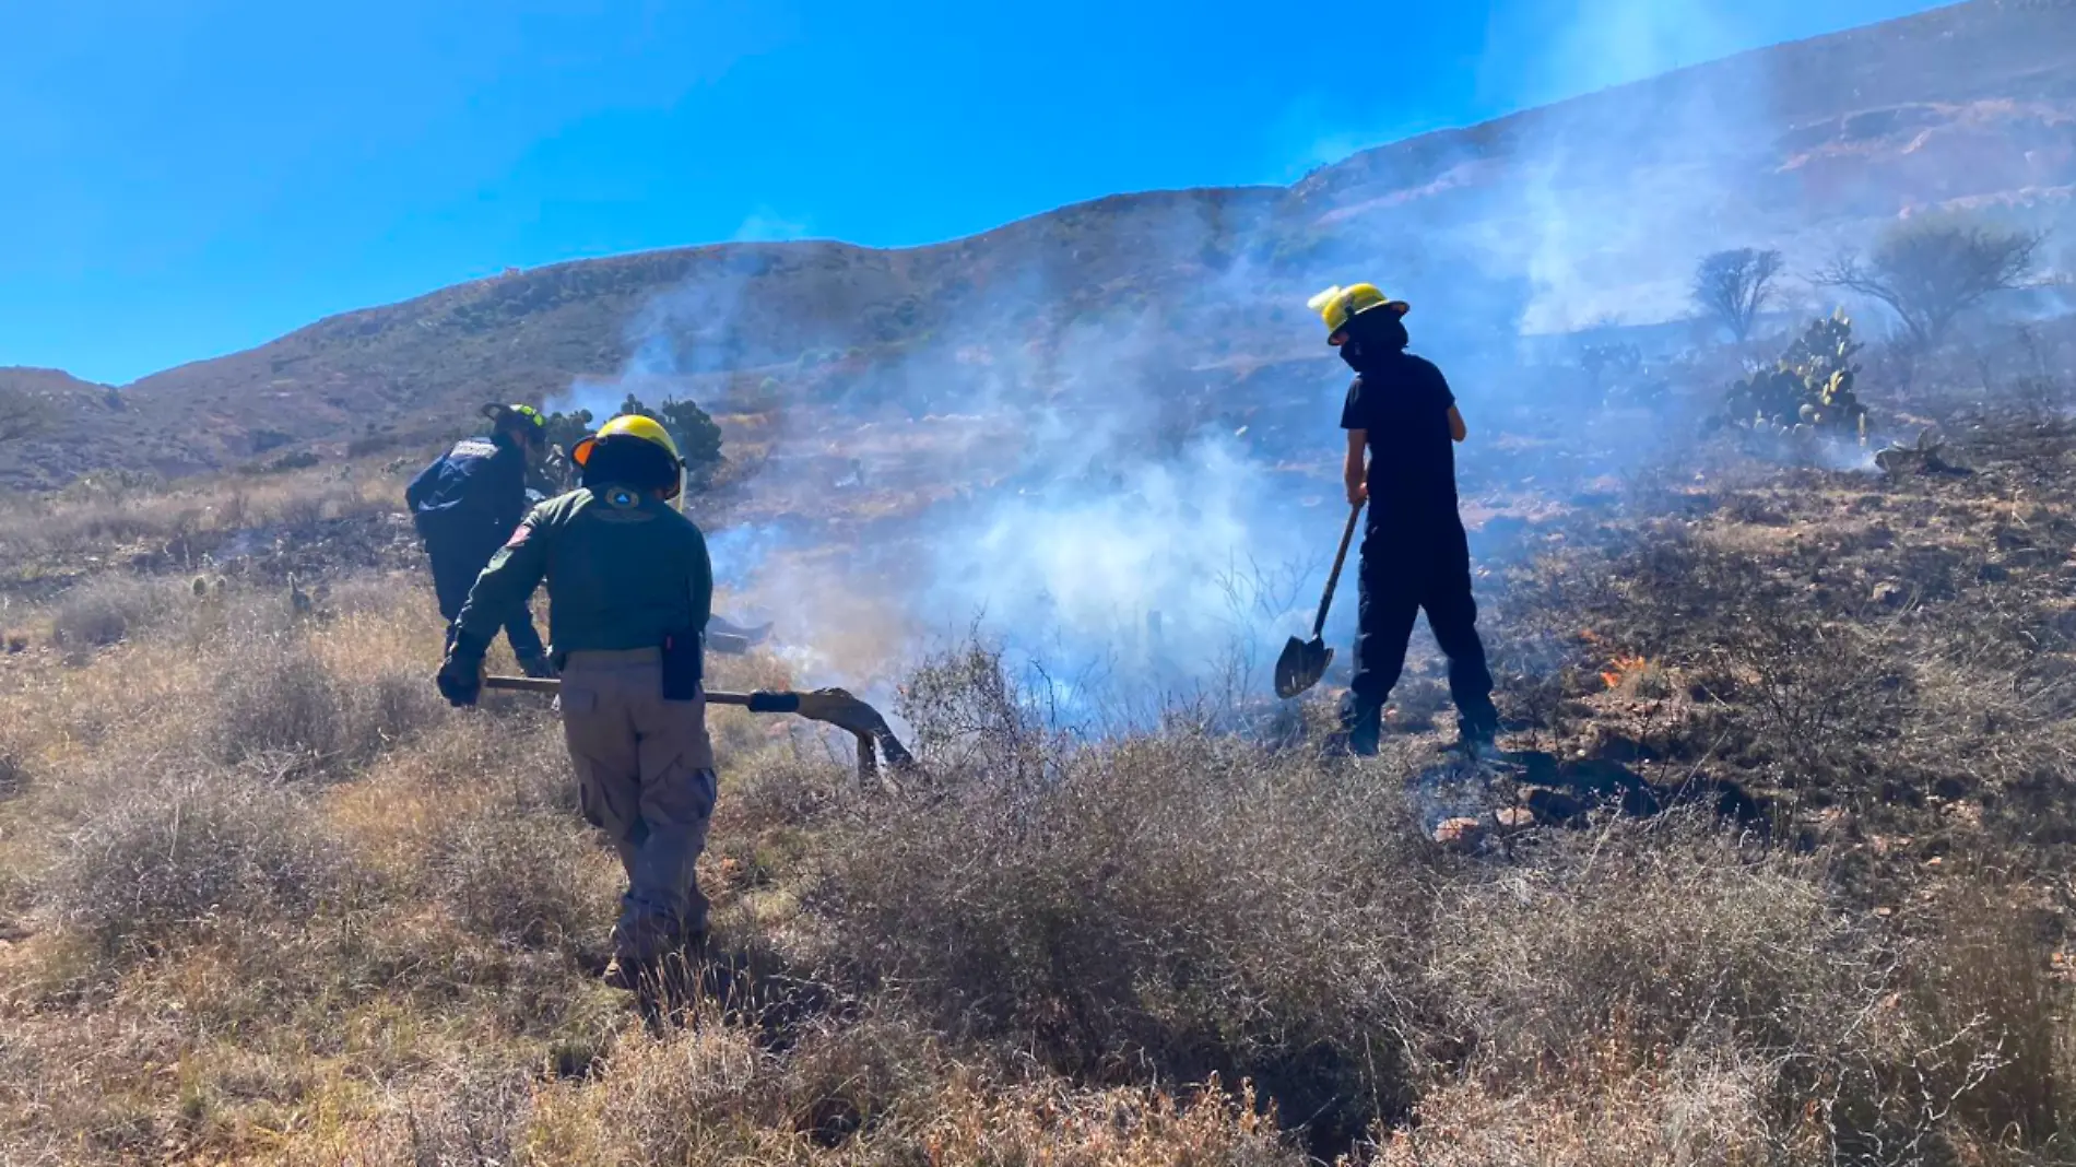
<path fill-rule="evenodd" d="M 1443 654 L 1449 656 L 1449 696 L 1459 725 L 1493 731 L 1493 673 L 1478 640 L 1478 602 L 1470 596 L 1470 544 L 1464 523 L 1439 530 L 1372 525 L 1362 538 L 1356 679 L 1349 683 L 1349 718 L 1374 725 L 1405 671 L 1414 619 L 1424 610 Z"/>

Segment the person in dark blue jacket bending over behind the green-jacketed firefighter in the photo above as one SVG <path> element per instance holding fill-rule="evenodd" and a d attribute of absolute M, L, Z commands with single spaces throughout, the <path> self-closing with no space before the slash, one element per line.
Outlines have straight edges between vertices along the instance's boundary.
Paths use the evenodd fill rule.
<path fill-rule="evenodd" d="M 440 617 L 453 625 L 490 557 L 527 513 L 527 465 L 548 449 L 548 422 L 527 405 L 486 405 L 488 438 L 457 442 L 405 488 L 405 503 L 432 559 Z M 552 677 L 548 650 L 523 606 L 504 621 L 504 640 L 527 677 Z"/>

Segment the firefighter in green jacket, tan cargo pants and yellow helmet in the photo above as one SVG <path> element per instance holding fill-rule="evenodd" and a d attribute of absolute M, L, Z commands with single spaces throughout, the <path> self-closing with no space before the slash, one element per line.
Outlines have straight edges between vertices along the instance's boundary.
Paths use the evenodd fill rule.
<path fill-rule="evenodd" d="M 714 575 L 700 527 L 671 505 L 683 461 L 660 424 L 614 417 L 571 461 L 581 486 L 534 507 L 477 577 L 438 685 L 475 704 L 490 640 L 546 579 L 583 816 L 627 868 L 606 980 L 635 988 L 706 941 L 693 862 L 716 797 L 702 687 Z"/>

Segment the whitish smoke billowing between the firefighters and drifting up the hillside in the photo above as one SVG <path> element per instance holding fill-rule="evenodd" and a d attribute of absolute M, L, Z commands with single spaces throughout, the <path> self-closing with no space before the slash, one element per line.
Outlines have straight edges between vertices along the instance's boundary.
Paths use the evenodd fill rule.
<path fill-rule="evenodd" d="M 1542 29 L 1536 69 L 1553 91 L 1646 77 L 1731 39 L 1729 12 L 1588 0 Z M 1472 417 L 1468 482 L 1549 494 L 1599 473 L 1586 419 L 1540 446 L 1493 440 L 1545 409 L 1524 320 L 1684 316 L 1700 253 L 1760 243 L 1756 69 L 1368 154 L 1285 197 L 1115 199 L 922 251 L 714 251 L 592 392 L 679 386 L 720 413 L 739 384 L 778 384 L 768 461 L 714 557 L 803 683 L 870 689 L 980 627 L 1055 696 L 1088 677 L 1264 694 L 1347 515 L 1347 372 L 1306 295 L 1368 278 L 1414 301 L 1416 349 Z M 1349 573 L 1341 644 L 1354 592 Z"/>

